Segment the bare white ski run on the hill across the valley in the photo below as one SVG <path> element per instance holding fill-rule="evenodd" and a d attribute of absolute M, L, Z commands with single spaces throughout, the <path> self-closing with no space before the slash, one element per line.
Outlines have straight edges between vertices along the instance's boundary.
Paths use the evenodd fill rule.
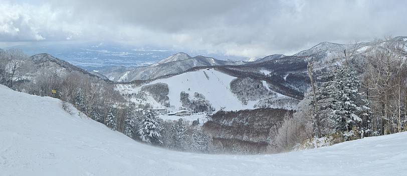
<path fill-rule="evenodd" d="M 208 74 L 209 79 L 206 77 L 204 71 Z M 205 99 L 209 100 L 212 106 L 216 108 L 216 111 L 224 106 L 226 106 L 225 110 L 253 109 L 256 101 L 248 101 L 248 103 L 244 105 L 235 96 L 235 94 L 230 91 L 230 82 L 235 78 L 236 77 L 214 69 L 201 69 L 197 71 L 185 72 L 165 79 L 157 79 L 148 84 L 158 82 L 168 84 L 169 103 L 171 106 L 174 105 L 176 110 L 178 107 L 181 107 L 181 102 L 179 101 L 181 91 L 189 93 L 189 98 L 193 98 L 194 92 L 202 93 L 205 96 Z M 140 91 L 141 86 L 135 87 L 131 85 L 118 84 L 117 89 L 125 93 L 137 93 Z M 132 100 L 136 101 L 136 99 Z M 155 107 L 161 106 L 152 98 L 147 102 Z"/>

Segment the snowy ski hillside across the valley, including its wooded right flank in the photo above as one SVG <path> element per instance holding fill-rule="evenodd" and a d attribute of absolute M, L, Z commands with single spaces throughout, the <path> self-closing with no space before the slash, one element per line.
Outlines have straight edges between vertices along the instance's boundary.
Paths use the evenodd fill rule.
<path fill-rule="evenodd" d="M 208 100 L 215 107 L 215 111 L 225 110 L 240 110 L 253 109 L 257 107 L 267 106 L 275 108 L 290 108 L 290 103 L 279 103 L 280 101 L 295 101 L 294 98 L 277 93 L 269 88 L 267 81 L 251 80 L 248 82 L 237 82 L 237 85 L 231 82 L 236 82 L 237 77 L 220 72 L 218 69 L 198 69 L 196 71 L 188 71 L 179 75 L 168 78 L 156 79 L 146 84 L 118 84 L 118 89 L 124 94 L 139 94 L 143 86 L 156 83 L 164 83 L 168 86 L 168 103 L 169 110 L 178 110 L 180 107 L 185 107 L 180 101 L 180 93 L 183 91 L 189 94 L 189 99 L 198 100 L 194 97 L 195 92 L 202 94 L 205 100 Z M 254 84 L 248 86 L 248 84 Z M 258 86 L 258 87 L 257 87 Z M 232 89 L 231 89 L 232 88 Z M 248 89 L 244 89 L 248 88 Z M 244 90 L 244 93 L 241 92 Z M 262 97 L 256 96 L 261 91 L 267 93 Z M 146 93 L 145 98 L 133 96 L 132 101 L 136 103 L 149 103 L 153 108 L 162 107 L 163 104 L 152 98 L 153 93 Z M 201 98 L 201 100 L 203 100 Z"/>

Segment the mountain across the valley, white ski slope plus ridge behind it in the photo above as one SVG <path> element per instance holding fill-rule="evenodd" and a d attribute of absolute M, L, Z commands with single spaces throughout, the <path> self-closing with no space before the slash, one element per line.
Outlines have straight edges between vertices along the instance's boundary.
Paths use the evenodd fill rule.
<path fill-rule="evenodd" d="M 405 43 L 406 38 L 395 37 L 394 39 Z M 303 99 L 304 92 L 310 87 L 307 72 L 308 61 L 315 61 L 314 71 L 323 69 L 326 71 L 330 65 L 337 63 L 332 62 L 330 59 L 334 57 L 340 58 L 346 49 L 353 52 L 352 60 L 355 62 L 356 68 L 359 69 L 358 66 L 363 66 L 358 63 L 359 56 L 367 52 L 372 44 L 371 42 L 353 45 L 321 42 L 294 55 L 274 54 L 256 61 L 244 62 L 244 64 L 196 56 L 170 62 L 163 61 L 161 64 L 133 70 L 122 67 L 117 71 L 117 75 L 122 77 L 107 77 L 114 78 L 114 80 L 133 80 L 127 82 L 127 85 L 119 86 L 119 89 L 124 94 L 141 93 L 143 86 L 164 83 L 169 89 L 166 95 L 168 100 L 165 102 L 155 100 L 152 96 L 153 93 L 147 93 L 143 98 L 134 97 L 137 104 L 149 104 L 153 108 L 166 107 L 168 110 L 177 110 L 179 108 L 196 110 L 194 106 L 182 104 L 180 100 L 181 92 L 185 92 L 189 101 L 195 101 L 197 100 L 194 97 L 196 92 L 205 96 L 205 99 L 202 99 L 205 103 L 202 102 L 201 105 L 211 105 L 217 110 L 221 109 L 221 107 L 225 110 L 292 109 L 299 100 Z M 123 70 L 126 72 L 121 73 Z M 109 71 L 103 74 L 109 74 Z M 131 77 L 130 75 L 138 76 Z M 135 81 L 136 79 L 144 81 Z M 209 110 L 210 108 L 206 109 Z"/>

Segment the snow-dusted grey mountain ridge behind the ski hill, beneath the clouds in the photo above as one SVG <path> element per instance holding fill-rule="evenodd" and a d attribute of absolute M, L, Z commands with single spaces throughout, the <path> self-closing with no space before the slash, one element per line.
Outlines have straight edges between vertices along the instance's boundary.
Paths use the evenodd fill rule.
<path fill-rule="evenodd" d="M 395 37 L 394 39 L 404 39 L 405 37 Z M 284 74 L 288 72 L 298 72 L 299 70 L 288 70 L 287 60 L 290 60 L 290 66 L 296 64 L 304 64 L 304 60 L 308 59 L 326 59 L 328 57 L 333 57 L 334 54 L 343 54 L 343 50 L 345 49 L 353 49 L 355 53 L 363 52 L 367 46 L 371 43 L 364 42 L 358 43 L 357 45 L 352 44 L 338 44 L 338 43 L 331 43 L 331 42 L 321 42 L 314 47 L 300 51 L 294 55 L 282 55 L 282 54 L 273 54 L 266 56 L 264 58 L 260 58 L 257 60 L 250 59 L 252 61 L 225 61 L 219 60 L 213 57 L 206 57 L 206 56 L 194 56 L 191 57 L 190 55 L 179 52 L 173 55 L 170 55 L 162 60 L 157 61 L 156 63 L 147 65 L 147 66 L 114 66 L 114 67 L 107 67 L 98 70 L 99 74 L 102 74 L 109 78 L 112 81 L 117 82 L 131 82 L 134 80 L 148 80 L 148 79 L 155 79 L 158 77 L 162 77 L 165 75 L 172 75 L 178 74 L 193 67 L 211 67 L 211 66 L 236 66 L 236 65 L 244 65 L 244 66 L 256 66 L 258 69 L 287 69 Z M 339 56 L 338 55 L 338 56 Z M 272 64 L 273 62 L 280 62 L 284 63 L 283 65 L 275 65 Z M 279 66 L 278 67 L 273 67 Z M 295 66 L 294 66 L 295 67 Z"/>

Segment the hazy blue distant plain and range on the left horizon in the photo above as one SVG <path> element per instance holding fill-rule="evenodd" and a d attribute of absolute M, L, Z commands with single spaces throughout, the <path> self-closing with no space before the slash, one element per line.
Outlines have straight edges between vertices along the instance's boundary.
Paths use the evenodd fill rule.
<path fill-rule="evenodd" d="M 111 66 L 146 66 L 156 63 L 167 57 L 168 55 L 179 52 L 173 49 L 157 46 L 135 47 L 117 43 L 114 41 L 94 41 L 85 43 L 47 45 L 31 44 L 17 45 L 13 47 L 21 48 L 28 55 L 34 55 L 37 53 L 49 53 L 55 57 L 66 60 L 71 64 L 79 66 L 88 71 L 100 70 Z M 207 54 L 203 52 L 190 52 L 190 54 L 206 55 L 229 60 L 246 59 L 237 56 Z"/>

